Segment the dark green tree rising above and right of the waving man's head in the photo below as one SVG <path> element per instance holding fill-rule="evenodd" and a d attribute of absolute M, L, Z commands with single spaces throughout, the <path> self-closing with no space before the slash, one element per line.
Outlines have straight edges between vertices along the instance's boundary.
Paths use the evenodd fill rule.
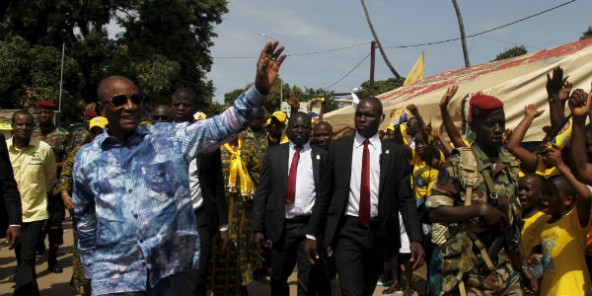
<path fill-rule="evenodd" d="M 119 43 L 129 48 L 132 64 L 150 64 L 158 57 L 160 63 L 178 67 L 168 73 L 168 84 L 152 90 L 155 101 L 168 101 L 175 88 L 183 86 L 195 90 L 200 108 L 210 105 L 213 88 L 205 79 L 212 65 L 209 47 L 216 36 L 213 26 L 226 12 L 225 0 L 153 0 L 139 1 L 133 13 L 119 18 L 126 29 Z M 151 75 L 146 71 L 133 74 Z"/>

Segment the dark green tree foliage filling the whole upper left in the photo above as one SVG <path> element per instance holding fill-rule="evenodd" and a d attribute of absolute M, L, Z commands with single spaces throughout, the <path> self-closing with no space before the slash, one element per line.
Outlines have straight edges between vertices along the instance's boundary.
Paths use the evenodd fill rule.
<path fill-rule="evenodd" d="M 1 2 L 0 106 L 4 108 L 19 107 L 24 89 L 56 98 L 62 44 L 68 102 L 93 102 L 100 80 L 124 75 L 152 98 L 150 104 L 169 103 L 174 89 L 184 86 L 195 89 L 204 107 L 210 105 L 214 88 L 205 73 L 212 65 L 213 26 L 228 11 L 226 0 Z M 123 32 L 110 39 L 106 28 L 115 21 Z"/>

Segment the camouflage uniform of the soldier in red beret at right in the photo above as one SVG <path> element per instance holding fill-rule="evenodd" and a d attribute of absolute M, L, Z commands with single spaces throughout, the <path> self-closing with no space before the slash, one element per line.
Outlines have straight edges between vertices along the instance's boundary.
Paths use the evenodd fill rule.
<path fill-rule="evenodd" d="M 473 151 L 479 174 L 475 179 L 477 185 L 473 186 L 471 203 L 488 203 L 507 215 L 510 225 L 521 225 L 517 198 L 519 162 L 505 148 L 500 149 L 496 163 L 478 146 L 473 146 Z M 440 170 L 436 185 L 432 188 L 432 196 L 426 202 L 428 208 L 464 206 L 467 180 L 461 178 L 461 167 L 461 155 L 457 151 Z M 485 174 L 491 176 L 489 180 L 493 184 L 490 187 L 493 186 L 491 191 L 494 192 L 488 189 Z M 497 252 L 491 247 L 496 244 L 499 246 L 498 237 L 503 237 L 502 231 L 509 233 L 509 229 L 489 227 L 479 218 L 447 226 L 449 233 L 440 246 L 440 269 L 443 273 L 440 295 L 458 294 L 461 282 L 468 295 L 522 295 L 519 272 L 512 268 L 505 247 L 502 244 Z M 488 253 L 493 270 L 485 264 L 475 238 L 490 249 Z"/>

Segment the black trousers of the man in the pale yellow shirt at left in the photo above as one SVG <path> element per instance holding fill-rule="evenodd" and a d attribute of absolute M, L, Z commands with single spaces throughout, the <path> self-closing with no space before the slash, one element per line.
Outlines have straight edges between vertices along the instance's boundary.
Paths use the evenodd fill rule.
<path fill-rule="evenodd" d="M 35 273 L 35 250 L 45 220 L 21 224 L 21 243 L 14 249 L 17 260 L 14 295 L 39 295 Z"/>

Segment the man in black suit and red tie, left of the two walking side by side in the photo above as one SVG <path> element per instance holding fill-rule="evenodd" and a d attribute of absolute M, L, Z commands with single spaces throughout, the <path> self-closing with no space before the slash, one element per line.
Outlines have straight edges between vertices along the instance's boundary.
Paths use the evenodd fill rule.
<path fill-rule="evenodd" d="M 254 199 L 255 240 L 261 244 L 267 237 L 273 243 L 272 295 L 289 295 L 287 280 L 297 262 L 298 295 L 313 295 L 319 288 L 312 285 L 311 263 L 319 260 L 317 241 L 328 206 L 330 173 L 327 152 L 310 145 L 310 121 L 307 114 L 292 114 L 290 142 L 268 148 Z M 330 294 L 327 290 L 318 292 Z"/>

